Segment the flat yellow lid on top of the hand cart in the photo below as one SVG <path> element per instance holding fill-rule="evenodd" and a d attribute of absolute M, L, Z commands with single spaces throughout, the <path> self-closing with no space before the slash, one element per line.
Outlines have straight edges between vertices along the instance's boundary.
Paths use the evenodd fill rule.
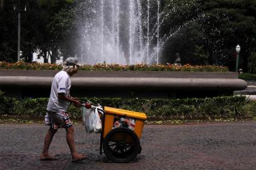
<path fill-rule="evenodd" d="M 104 110 L 107 113 L 112 113 L 112 114 L 117 114 L 117 115 L 125 115 L 125 116 L 129 116 L 132 118 L 140 118 L 143 120 L 147 119 L 147 116 L 145 113 L 141 113 L 141 112 L 136 112 L 136 111 L 129 111 L 129 110 L 123 110 L 123 109 L 118 109 L 118 108 L 110 108 L 105 106 Z"/>

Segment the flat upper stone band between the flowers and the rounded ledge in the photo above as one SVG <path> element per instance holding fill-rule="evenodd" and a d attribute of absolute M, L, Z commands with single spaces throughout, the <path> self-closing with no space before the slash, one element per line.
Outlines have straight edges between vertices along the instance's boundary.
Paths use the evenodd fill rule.
<path fill-rule="evenodd" d="M 0 76 L 54 77 L 59 71 L 0 70 Z M 74 77 L 169 77 L 169 78 L 221 78 L 237 79 L 236 72 L 190 71 L 78 71 Z"/>

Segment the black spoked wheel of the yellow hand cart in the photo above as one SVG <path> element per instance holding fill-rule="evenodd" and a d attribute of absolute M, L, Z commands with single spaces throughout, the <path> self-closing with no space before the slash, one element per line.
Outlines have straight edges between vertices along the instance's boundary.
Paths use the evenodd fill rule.
<path fill-rule="evenodd" d="M 129 128 L 114 128 L 103 139 L 105 155 L 113 162 L 132 161 L 141 150 L 139 139 Z"/>

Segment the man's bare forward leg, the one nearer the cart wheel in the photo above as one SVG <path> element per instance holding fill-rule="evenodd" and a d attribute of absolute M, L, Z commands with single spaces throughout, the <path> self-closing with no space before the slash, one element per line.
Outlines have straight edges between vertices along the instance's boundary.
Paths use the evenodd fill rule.
<path fill-rule="evenodd" d="M 71 151 L 72 159 L 73 160 L 81 160 L 86 158 L 83 154 L 78 154 L 76 152 L 76 147 L 74 144 L 74 127 L 69 127 L 66 128 L 66 139 L 67 139 L 67 144 L 69 145 L 69 149 Z"/>

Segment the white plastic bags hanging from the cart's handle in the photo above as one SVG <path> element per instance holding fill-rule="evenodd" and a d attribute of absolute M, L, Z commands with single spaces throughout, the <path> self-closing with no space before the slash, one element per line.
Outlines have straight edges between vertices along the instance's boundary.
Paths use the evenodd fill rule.
<path fill-rule="evenodd" d="M 91 108 L 85 107 L 86 103 L 82 104 L 82 118 L 83 125 L 87 133 L 100 133 L 102 132 L 102 120 L 100 116 L 103 115 L 103 108 L 98 104 L 98 106 L 91 105 Z"/>

